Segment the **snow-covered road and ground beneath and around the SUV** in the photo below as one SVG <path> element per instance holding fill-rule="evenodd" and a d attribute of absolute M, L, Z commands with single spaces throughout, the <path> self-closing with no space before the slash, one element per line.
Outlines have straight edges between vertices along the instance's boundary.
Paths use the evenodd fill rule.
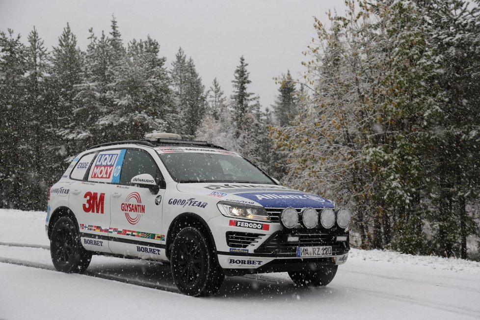
<path fill-rule="evenodd" d="M 270 273 L 229 277 L 218 295 L 192 298 L 176 293 L 168 265 L 95 256 L 85 275 L 53 270 L 45 216 L 0 210 L 2 320 L 480 318 L 475 262 L 352 249 L 324 288 Z"/>

